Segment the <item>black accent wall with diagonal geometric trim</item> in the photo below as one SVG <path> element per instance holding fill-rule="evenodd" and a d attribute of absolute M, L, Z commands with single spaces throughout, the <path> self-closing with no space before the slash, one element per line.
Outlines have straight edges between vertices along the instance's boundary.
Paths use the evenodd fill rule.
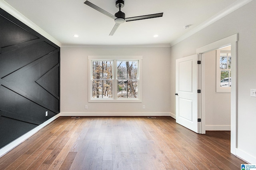
<path fill-rule="evenodd" d="M 58 113 L 60 47 L 0 8 L 0 148 Z"/>

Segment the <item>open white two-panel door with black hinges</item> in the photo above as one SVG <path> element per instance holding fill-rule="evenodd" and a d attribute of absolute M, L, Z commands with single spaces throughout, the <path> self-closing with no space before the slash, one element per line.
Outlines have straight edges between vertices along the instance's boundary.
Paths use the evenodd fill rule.
<path fill-rule="evenodd" d="M 197 55 L 176 59 L 176 123 L 198 133 Z"/>

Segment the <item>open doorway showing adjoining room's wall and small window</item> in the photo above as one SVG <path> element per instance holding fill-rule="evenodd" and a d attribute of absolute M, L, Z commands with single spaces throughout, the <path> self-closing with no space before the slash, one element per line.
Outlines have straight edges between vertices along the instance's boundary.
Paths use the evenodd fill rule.
<path fill-rule="evenodd" d="M 230 50 L 231 45 L 202 54 L 206 131 L 230 130 Z"/>

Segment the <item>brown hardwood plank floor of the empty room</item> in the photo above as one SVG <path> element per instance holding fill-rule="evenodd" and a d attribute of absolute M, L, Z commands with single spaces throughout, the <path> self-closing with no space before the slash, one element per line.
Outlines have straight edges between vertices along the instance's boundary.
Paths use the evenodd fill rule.
<path fill-rule="evenodd" d="M 171 117 L 59 117 L 0 158 L 1 170 L 240 170 L 230 132 Z"/>

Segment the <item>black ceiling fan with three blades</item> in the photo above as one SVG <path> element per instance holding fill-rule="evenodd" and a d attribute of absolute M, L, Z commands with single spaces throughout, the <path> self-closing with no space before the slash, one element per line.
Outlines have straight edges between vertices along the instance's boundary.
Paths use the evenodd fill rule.
<path fill-rule="evenodd" d="M 115 14 L 112 15 L 105 10 L 101 9 L 100 7 L 92 4 L 88 0 L 84 2 L 84 4 L 94 8 L 95 10 L 101 12 L 102 14 L 112 18 L 115 20 L 116 24 L 112 31 L 110 32 L 110 36 L 113 36 L 114 33 L 116 32 L 117 28 L 120 26 L 120 24 L 128 21 L 135 21 L 135 20 L 144 20 L 144 19 L 149 19 L 149 18 L 157 18 L 157 17 L 162 17 L 163 13 L 158 13 L 158 14 L 150 14 L 150 15 L 144 15 L 144 16 L 135 16 L 135 17 L 130 17 L 130 18 L 125 18 L 124 12 L 121 11 L 121 8 L 124 7 L 124 1 L 123 0 L 117 0 L 116 1 L 116 8 L 119 8 L 119 11 Z"/>

